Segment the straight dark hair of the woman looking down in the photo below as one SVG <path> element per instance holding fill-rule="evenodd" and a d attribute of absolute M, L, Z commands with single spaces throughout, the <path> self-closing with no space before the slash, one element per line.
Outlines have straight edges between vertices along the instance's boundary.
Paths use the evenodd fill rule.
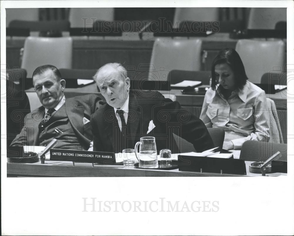
<path fill-rule="evenodd" d="M 213 59 L 212 66 L 211 66 L 211 88 L 216 90 L 216 75 L 215 75 L 215 67 L 218 64 L 228 64 L 229 67 L 234 72 L 235 76 L 235 84 L 239 89 L 243 89 L 244 85 L 246 84 L 246 80 L 248 79 L 243 62 L 235 49 L 226 48 L 221 50 L 217 56 Z M 222 87 L 220 86 L 220 89 Z M 221 89 L 222 92 L 222 89 Z"/>

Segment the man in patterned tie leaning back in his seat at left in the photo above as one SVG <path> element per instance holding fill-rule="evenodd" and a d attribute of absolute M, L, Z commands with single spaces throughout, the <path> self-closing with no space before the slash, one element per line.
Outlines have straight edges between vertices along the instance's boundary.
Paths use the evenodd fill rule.
<path fill-rule="evenodd" d="M 11 146 L 46 146 L 55 138 L 55 148 L 87 150 L 93 140 L 90 117 L 101 106 L 101 98 L 94 94 L 65 98 L 65 80 L 52 65 L 38 67 L 33 84 L 43 106 L 26 115 Z"/>

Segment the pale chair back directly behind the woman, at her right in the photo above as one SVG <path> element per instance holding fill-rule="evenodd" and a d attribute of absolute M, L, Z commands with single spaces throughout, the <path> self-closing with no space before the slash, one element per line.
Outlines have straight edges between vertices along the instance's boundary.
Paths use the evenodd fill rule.
<path fill-rule="evenodd" d="M 236 51 L 252 83 L 258 84 L 265 72 L 285 66 L 285 43 L 282 40 L 240 39 L 236 44 Z"/>

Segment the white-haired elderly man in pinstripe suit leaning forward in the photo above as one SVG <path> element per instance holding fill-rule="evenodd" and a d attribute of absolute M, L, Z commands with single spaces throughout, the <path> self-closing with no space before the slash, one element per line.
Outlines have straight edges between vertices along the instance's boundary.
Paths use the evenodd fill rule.
<path fill-rule="evenodd" d="M 213 147 L 203 122 L 157 91 L 130 91 L 126 69 L 109 63 L 98 69 L 96 81 L 107 104 L 91 116 L 93 150 L 122 152 L 140 137 L 153 136 L 156 147 L 179 153 L 173 133 L 191 142 L 198 152 Z"/>

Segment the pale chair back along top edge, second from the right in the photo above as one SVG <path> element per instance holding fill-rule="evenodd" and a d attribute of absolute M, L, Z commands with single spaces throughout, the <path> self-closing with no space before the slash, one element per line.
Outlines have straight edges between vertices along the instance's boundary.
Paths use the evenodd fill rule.
<path fill-rule="evenodd" d="M 218 7 L 177 7 L 173 19 L 174 27 L 181 21 L 218 21 Z"/>

